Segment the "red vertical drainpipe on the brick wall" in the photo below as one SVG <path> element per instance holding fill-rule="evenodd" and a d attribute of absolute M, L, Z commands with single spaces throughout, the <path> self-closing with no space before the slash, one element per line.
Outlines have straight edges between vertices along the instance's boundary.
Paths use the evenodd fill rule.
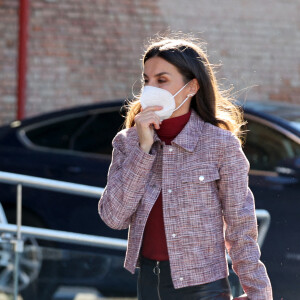
<path fill-rule="evenodd" d="M 18 83 L 17 83 L 17 119 L 25 116 L 26 104 L 26 73 L 27 73 L 27 41 L 29 21 L 29 0 L 19 3 L 19 52 L 18 52 Z"/>

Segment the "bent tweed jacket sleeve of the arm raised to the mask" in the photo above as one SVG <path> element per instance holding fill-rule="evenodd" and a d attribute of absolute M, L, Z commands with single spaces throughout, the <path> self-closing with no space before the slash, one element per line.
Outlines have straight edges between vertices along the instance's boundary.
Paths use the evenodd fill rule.
<path fill-rule="evenodd" d="M 155 155 L 144 152 L 134 142 L 126 151 L 126 134 L 119 132 L 112 141 L 112 160 L 107 184 L 98 203 L 101 219 L 113 229 L 129 227 L 131 216 L 141 200 Z"/>

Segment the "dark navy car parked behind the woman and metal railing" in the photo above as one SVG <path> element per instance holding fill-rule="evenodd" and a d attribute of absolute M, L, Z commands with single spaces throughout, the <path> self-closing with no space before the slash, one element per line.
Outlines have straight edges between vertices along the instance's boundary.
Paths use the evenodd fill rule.
<path fill-rule="evenodd" d="M 124 122 L 122 104 L 123 101 L 115 101 L 81 106 L 1 127 L 0 171 L 104 187 L 111 141 Z M 274 299 L 296 299 L 300 294 L 300 106 L 269 101 L 240 105 L 248 121 L 244 152 L 251 166 L 249 185 L 256 208 L 266 209 L 271 215 L 261 259 L 272 282 Z M 14 223 L 16 188 L 0 184 L 0 194 L 8 220 Z M 126 239 L 126 230 L 111 230 L 101 221 L 97 202 L 24 188 L 23 224 Z M 92 276 L 85 277 L 86 284 L 104 294 L 113 294 L 118 292 L 115 284 L 120 286 L 121 282 L 120 293 L 134 293 L 132 276 L 118 269 L 124 253 L 103 249 L 98 255 L 99 262 L 90 263 L 91 267 L 99 266 L 98 273 L 97 268 L 89 272 Z M 109 275 L 112 270 L 118 270 L 119 277 Z M 47 271 L 51 271 L 50 266 Z M 5 272 L 5 267 L 0 266 L 0 283 L 1 272 Z M 108 279 L 100 280 L 104 273 Z M 65 284 L 80 284 L 82 280 L 82 276 L 76 280 L 73 277 Z M 24 289 L 25 296 L 32 293 L 31 286 Z M 54 280 L 52 289 L 56 287 Z M 49 294 L 49 284 L 47 289 Z"/>

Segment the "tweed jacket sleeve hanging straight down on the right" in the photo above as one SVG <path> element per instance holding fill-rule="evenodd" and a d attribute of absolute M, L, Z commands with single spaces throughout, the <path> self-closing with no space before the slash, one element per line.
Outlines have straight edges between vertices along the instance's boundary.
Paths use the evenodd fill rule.
<path fill-rule="evenodd" d="M 257 244 L 257 219 L 248 186 L 250 163 L 235 135 L 225 138 L 220 163 L 219 196 L 225 224 L 225 246 L 232 268 L 250 300 L 272 300 L 272 287 Z"/>

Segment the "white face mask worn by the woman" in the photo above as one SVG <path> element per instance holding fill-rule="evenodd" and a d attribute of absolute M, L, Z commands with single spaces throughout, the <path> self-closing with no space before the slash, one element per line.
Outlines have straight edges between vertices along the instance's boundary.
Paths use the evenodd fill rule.
<path fill-rule="evenodd" d="M 155 111 L 155 113 L 159 116 L 160 121 L 168 119 L 169 117 L 171 117 L 174 111 L 179 109 L 189 99 L 189 97 L 194 96 L 193 94 L 189 94 L 176 108 L 174 97 L 178 95 L 189 83 L 190 81 L 185 84 L 175 95 L 172 95 L 169 91 L 161 88 L 157 88 L 154 86 L 144 86 L 140 97 L 142 108 L 145 109 L 148 106 L 154 105 L 162 106 L 163 109 L 157 110 Z"/>

